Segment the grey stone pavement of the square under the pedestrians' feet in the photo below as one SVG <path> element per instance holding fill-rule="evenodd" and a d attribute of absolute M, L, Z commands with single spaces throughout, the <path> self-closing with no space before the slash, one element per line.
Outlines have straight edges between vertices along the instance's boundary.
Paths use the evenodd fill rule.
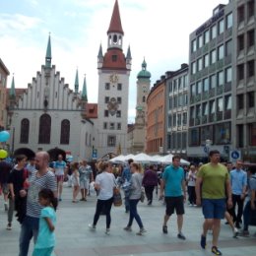
<path fill-rule="evenodd" d="M 157 196 L 152 206 L 147 202 L 139 203 L 138 211 L 147 229 L 144 235 L 136 235 L 139 230 L 136 222 L 133 230 L 127 232 L 123 227 L 128 223 L 129 215 L 125 214 L 124 207 L 113 207 L 111 210 L 112 223 L 110 234 L 106 235 L 105 217 L 100 216 L 96 231 L 91 231 L 88 224 L 92 224 L 95 209 L 96 195 L 88 197 L 87 202 L 72 203 L 72 188 L 65 186 L 63 201 L 57 211 L 55 256 L 203 256 L 213 255 L 211 252 L 212 235 L 208 235 L 206 250 L 199 245 L 203 217 L 201 209 L 186 205 L 183 233 L 186 240 L 177 238 L 176 217 L 168 223 L 168 233 L 161 231 L 164 206 Z M 20 224 L 14 221 L 13 229 L 6 230 L 7 215 L 4 212 L 3 200 L 0 201 L 0 256 L 17 256 L 19 251 Z M 251 233 L 256 231 L 250 226 Z M 255 256 L 256 237 L 232 238 L 228 225 L 222 224 L 220 235 L 220 249 L 223 255 Z M 32 244 L 31 250 L 32 252 Z M 31 255 L 31 254 L 30 254 Z"/>

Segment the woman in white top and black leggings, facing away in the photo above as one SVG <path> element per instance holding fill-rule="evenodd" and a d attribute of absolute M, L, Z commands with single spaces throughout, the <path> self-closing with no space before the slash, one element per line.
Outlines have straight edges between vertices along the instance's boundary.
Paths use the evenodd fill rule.
<path fill-rule="evenodd" d="M 100 169 L 102 172 L 96 175 L 95 188 L 97 191 L 97 201 L 96 201 L 96 214 L 94 218 L 94 223 L 89 224 L 92 230 L 96 230 L 96 223 L 99 216 L 104 210 L 106 229 L 105 234 L 110 232 L 111 216 L 110 211 L 113 204 L 113 189 L 116 187 L 115 178 L 113 173 L 111 173 L 112 164 L 110 162 L 102 162 L 100 164 Z"/>

